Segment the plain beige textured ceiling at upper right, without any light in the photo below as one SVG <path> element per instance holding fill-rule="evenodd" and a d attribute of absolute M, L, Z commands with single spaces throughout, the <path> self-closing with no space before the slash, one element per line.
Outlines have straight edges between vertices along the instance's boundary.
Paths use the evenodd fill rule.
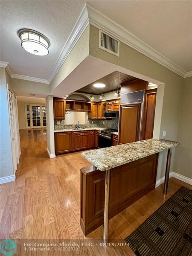
<path fill-rule="evenodd" d="M 137 38 L 192 71 L 191 0 L 86 0 Z"/>

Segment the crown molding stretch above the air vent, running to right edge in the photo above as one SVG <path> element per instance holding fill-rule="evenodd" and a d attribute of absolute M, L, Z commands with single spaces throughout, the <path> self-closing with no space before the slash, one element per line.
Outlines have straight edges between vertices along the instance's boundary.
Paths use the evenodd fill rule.
<path fill-rule="evenodd" d="M 122 26 L 120 26 L 107 16 L 103 15 L 101 12 L 97 11 L 93 7 L 89 6 L 88 4 L 87 10 L 90 24 L 104 30 L 105 32 L 110 33 L 111 35 L 122 41 L 124 44 L 127 44 L 129 47 L 137 50 L 138 52 L 141 52 L 143 55 L 151 58 L 152 60 L 163 65 L 169 70 L 172 70 L 177 75 L 182 77 L 186 76 L 186 70 L 183 70 L 183 68 L 170 61 L 168 58 L 160 54 L 160 52 L 157 52 L 155 49 L 145 44 L 139 38 L 128 32 L 128 30 L 124 29 Z"/>

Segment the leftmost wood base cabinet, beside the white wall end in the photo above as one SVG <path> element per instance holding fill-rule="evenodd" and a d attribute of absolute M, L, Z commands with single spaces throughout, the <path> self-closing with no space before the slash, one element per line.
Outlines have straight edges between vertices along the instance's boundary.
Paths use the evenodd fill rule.
<path fill-rule="evenodd" d="M 71 132 L 55 133 L 55 154 L 72 151 Z"/>

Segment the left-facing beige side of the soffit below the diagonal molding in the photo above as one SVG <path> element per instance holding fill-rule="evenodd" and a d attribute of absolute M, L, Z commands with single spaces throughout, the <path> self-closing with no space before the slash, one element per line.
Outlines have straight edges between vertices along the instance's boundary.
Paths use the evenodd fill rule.
<path fill-rule="evenodd" d="M 67 56 L 60 70 L 50 83 L 51 91 L 55 89 L 80 63 L 89 55 L 89 26 Z"/>

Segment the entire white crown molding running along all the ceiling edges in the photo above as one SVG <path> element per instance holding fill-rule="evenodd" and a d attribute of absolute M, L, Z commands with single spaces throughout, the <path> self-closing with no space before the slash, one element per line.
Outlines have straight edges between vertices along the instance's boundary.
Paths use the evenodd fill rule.
<path fill-rule="evenodd" d="M 151 58 L 152 60 L 163 65 L 169 70 L 172 70 L 174 73 L 178 74 L 179 76 L 182 76 L 183 78 L 192 76 L 192 71 L 186 72 L 186 70 L 183 70 L 181 67 L 179 67 L 178 65 L 170 61 L 168 58 L 160 54 L 160 52 L 157 52 L 155 49 L 148 46 L 139 38 L 137 38 L 136 36 L 128 32 L 122 26 L 115 23 L 113 20 L 103 15 L 101 12 L 97 11 L 93 7 L 89 6 L 88 4 L 85 4 L 81 14 L 79 15 L 79 18 L 75 26 L 73 27 L 72 32 L 67 38 L 67 42 L 62 48 L 61 53 L 47 80 L 12 73 L 12 70 L 8 62 L 0 61 L 0 67 L 6 68 L 7 73 L 12 78 L 50 84 L 52 79 L 55 77 L 58 70 L 61 68 L 67 56 L 70 54 L 71 50 L 73 49 L 73 47 L 75 46 L 75 44 L 77 43 L 77 41 L 79 40 L 84 30 L 87 28 L 89 24 L 92 24 L 93 26 L 96 26 L 97 28 L 102 29 L 105 32 L 108 32 L 109 34 L 113 35 L 124 44 L 137 50 L 138 52 L 141 52 L 143 55 L 147 56 L 148 58 Z"/>

